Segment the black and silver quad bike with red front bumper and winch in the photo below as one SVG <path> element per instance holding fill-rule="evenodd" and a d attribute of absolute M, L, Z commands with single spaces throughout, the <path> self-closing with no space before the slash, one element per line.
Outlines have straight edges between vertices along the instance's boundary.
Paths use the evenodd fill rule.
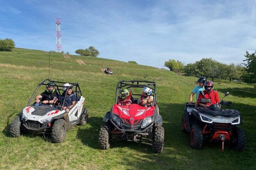
<path fill-rule="evenodd" d="M 203 94 L 203 92 L 200 92 Z M 229 92 L 224 97 L 229 95 Z M 224 98 L 223 97 L 223 98 Z M 185 104 L 185 113 L 181 119 L 181 128 L 190 133 L 190 146 L 195 149 L 202 147 L 203 141 L 224 142 L 236 150 L 245 148 L 245 133 L 238 125 L 242 122 L 241 113 L 238 110 L 221 109 L 221 104 L 230 106 L 231 101 L 222 100 L 219 104 L 213 104 L 208 108 L 194 108 L 195 104 Z M 200 99 L 200 103 L 210 103 L 210 99 Z"/>

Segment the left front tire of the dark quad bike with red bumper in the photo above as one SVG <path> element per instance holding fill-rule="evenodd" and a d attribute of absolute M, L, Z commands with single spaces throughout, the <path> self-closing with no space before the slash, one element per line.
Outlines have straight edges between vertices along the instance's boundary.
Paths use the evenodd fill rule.
<path fill-rule="evenodd" d="M 190 131 L 190 146 L 194 149 L 200 149 L 203 143 L 203 132 L 199 125 L 194 124 Z"/>

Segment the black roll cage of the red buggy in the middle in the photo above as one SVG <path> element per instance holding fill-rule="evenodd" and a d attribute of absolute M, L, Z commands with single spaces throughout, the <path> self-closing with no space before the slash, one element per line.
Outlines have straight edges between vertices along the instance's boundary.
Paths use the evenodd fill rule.
<path fill-rule="evenodd" d="M 144 88 L 144 87 L 148 87 L 150 89 L 152 89 L 152 94 L 153 94 L 153 106 L 156 105 L 156 83 L 155 82 L 150 82 L 150 81 L 139 81 L 139 80 L 120 80 L 117 83 L 117 89 L 116 89 L 116 100 L 115 103 L 117 103 L 118 97 L 119 97 L 119 91 L 122 88 Z M 132 94 L 135 96 L 141 96 L 141 94 Z"/>

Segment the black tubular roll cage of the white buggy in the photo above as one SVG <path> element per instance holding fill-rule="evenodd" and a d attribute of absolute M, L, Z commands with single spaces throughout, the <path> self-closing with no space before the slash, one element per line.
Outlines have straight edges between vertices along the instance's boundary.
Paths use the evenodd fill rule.
<path fill-rule="evenodd" d="M 41 83 L 37 86 L 37 89 L 35 90 L 34 94 L 31 96 L 30 100 L 29 100 L 28 103 L 27 103 L 27 107 L 30 106 L 30 102 L 31 102 L 31 100 L 33 99 L 33 97 L 34 97 L 34 95 L 36 94 L 36 92 L 37 92 L 37 90 L 39 89 L 39 87 L 40 87 L 41 85 L 45 85 L 45 86 L 46 86 L 47 83 L 49 83 L 49 82 L 52 82 L 52 83 L 54 84 L 54 85 L 52 85 L 52 86 L 56 87 L 55 90 L 57 91 L 57 93 L 59 94 L 59 96 L 61 96 L 60 91 L 64 91 L 64 90 L 63 90 L 64 87 L 67 88 L 67 89 L 72 88 L 72 87 L 75 87 L 75 90 L 73 90 L 73 92 L 74 92 L 74 94 L 76 94 L 76 99 L 77 99 L 77 100 L 79 100 L 80 97 L 82 96 L 82 92 L 81 92 L 81 89 L 80 89 L 78 83 L 58 82 L 58 81 L 54 81 L 54 80 L 50 80 L 50 79 L 45 79 L 43 82 L 41 82 Z M 58 84 L 56 84 L 56 83 L 58 83 L 58 84 L 59 84 L 59 83 L 60 83 L 60 84 L 69 83 L 69 84 L 71 84 L 71 86 L 63 86 L 63 85 L 58 85 Z M 60 88 L 60 87 L 62 87 L 62 88 Z M 67 92 L 68 92 L 68 91 L 66 90 L 66 91 L 65 91 L 65 99 L 64 99 L 64 101 L 66 100 Z M 72 92 L 72 93 L 73 93 L 73 92 Z M 63 106 L 64 106 L 64 102 L 62 102 L 62 106 L 61 106 L 60 108 L 62 108 Z"/>

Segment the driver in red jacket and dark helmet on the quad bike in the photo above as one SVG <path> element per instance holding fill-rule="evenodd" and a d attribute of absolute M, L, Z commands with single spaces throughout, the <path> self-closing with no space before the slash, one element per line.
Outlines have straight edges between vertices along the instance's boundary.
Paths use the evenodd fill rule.
<path fill-rule="evenodd" d="M 206 81 L 204 83 L 204 91 L 203 94 L 199 94 L 197 99 L 197 104 L 202 107 L 209 107 L 212 104 L 219 103 L 219 95 L 216 91 L 213 90 L 213 82 L 212 81 Z M 210 99 L 211 103 L 200 103 L 199 100 L 202 98 Z"/>

